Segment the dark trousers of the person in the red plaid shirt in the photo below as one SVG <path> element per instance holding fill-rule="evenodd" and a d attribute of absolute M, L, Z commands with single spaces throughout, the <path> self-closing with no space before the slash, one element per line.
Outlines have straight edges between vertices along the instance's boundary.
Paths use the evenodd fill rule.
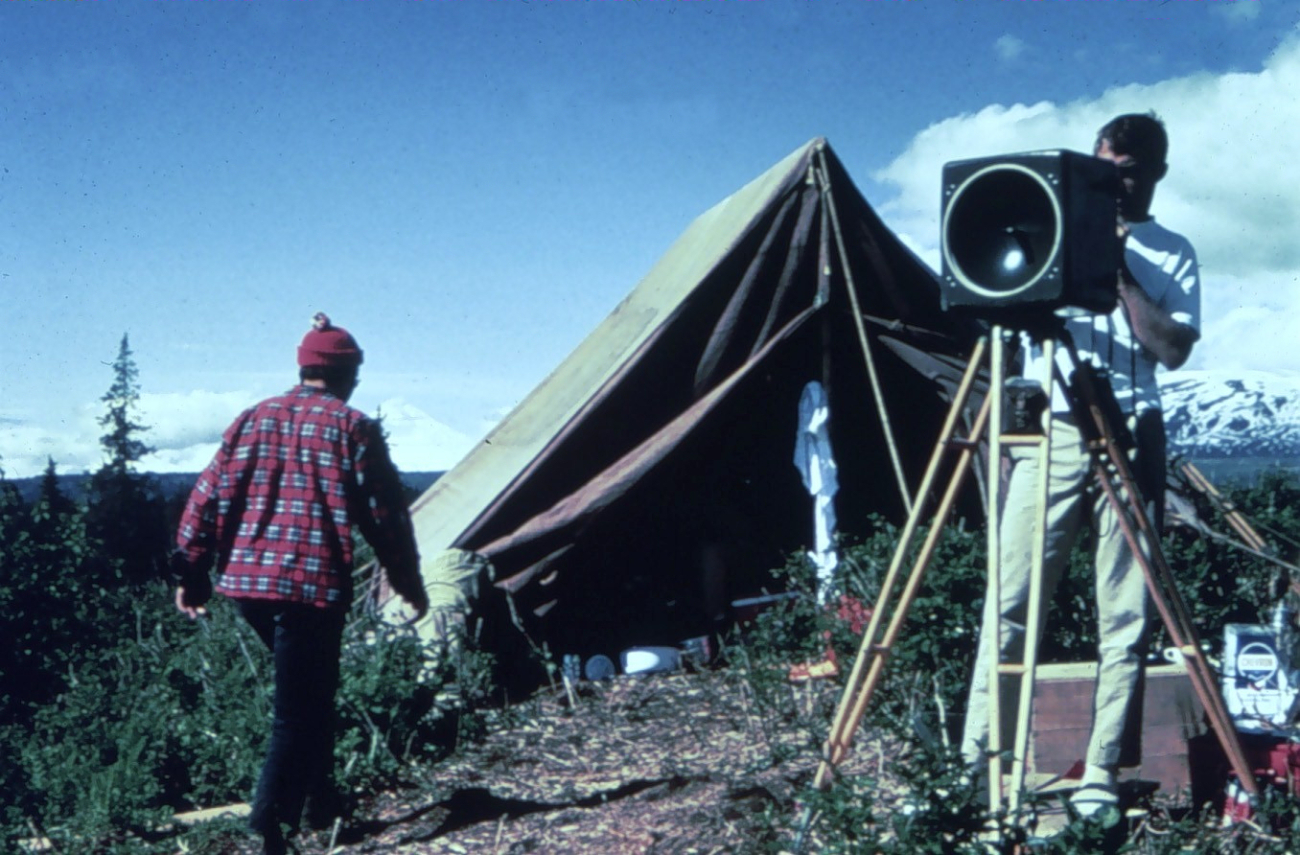
<path fill-rule="evenodd" d="M 239 612 L 276 663 L 270 746 L 248 826 L 261 834 L 277 823 L 296 829 L 307 797 L 332 789 L 334 693 L 346 612 L 274 600 L 239 600 Z"/>

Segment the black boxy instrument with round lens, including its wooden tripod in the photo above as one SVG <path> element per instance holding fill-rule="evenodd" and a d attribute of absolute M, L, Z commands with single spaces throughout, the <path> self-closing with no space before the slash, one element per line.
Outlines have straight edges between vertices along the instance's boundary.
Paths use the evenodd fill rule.
<path fill-rule="evenodd" d="M 992 816 L 1002 813 L 1004 808 L 1013 820 L 1023 815 L 1034 682 L 1046 607 L 1043 568 L 1054 421 L 1050 409 L 1053 396 L 1063 395 L 1087 450 L 1091 476 L 1132 550 L 1173 646 L 1182 654 L 1192 689 L 1223 755 L 1240 786 L 1252 799 L 1258 797 L 1251 764 L 1134 477 L 1128 460 L 1132 437 L 1114 392 L 1102 373 L 1080 360 L 1066 330 L 1067 316 L 1109 314 L 1115 307 L 1117 270 L 1122 264 L 1115 233 L 1117 187 L 1114 164 L 1067 151 L 957 161 L 944 168 L 941 286 L 945 308 L 962 307 L 991 322 L 976 340 L 953 394 L 881 582 L 816 771 L 814 786 L 819 790 L 831 784 L 835 768 L 849 752 L 965 477 L 980 448 L 987 447 L 987 596 L 994 603 L 994 620 L 985 625 L 980 637 L 980 643 L 989 646 L 991 652 L 987 656 L 991 663 L 985 747 L 988 802 Z M 1046 365 L 1046 376 L 1039 378 L 1045 392 L 1045 400 L 1039 402 L 1048 409 L 1041 429 L 1035 426 L 1040 421 L 1037 413 L 1032 408 L 1027 412 L 1023 387 L 1008 383 L 1006 378 L 1008 340 L 1022 333 L 1040 343 L 1041 364 Z M 987 377 L 988 391 L 971 418 L 968 404 L 976 396 L 982 374 Z M 967 433 L 959 435 L 963 421 Z M 1000 635 L 1005 632 L 1000 607 L 1002 464 L 1006 451 L 1017 447 L 1030 450 L 1034 455 L 1030 459 L 1037 460 L 1036 537 L 1031 548 L 1023 652 L 1018 661 L 1006 661 L 998 654 L 1002 650 Z M 956 460 L 949 466 L 945 459 L 952 455 Z M 940 472 L 945 468 L 948 485 L 933 504 Z M 904 565 L 914 552 L 926 509 L 931 507 L 927 534 L 905 576 Z M 1014 739 L 1009 739 L 1002 728 L 1004 687 L 1014 689 L 1018 698 Z M 1005 780 L 1008 774 L 1009 781 Z M 807 813 L 800 832 L 801 851 L 810 824 L 811 813 Z"/>

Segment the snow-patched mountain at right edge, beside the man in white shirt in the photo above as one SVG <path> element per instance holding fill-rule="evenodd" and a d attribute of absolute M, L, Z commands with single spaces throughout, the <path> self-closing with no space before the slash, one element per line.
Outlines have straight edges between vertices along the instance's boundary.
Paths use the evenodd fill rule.
<path fill-rule="evenodd" d="M 1300 457 L 1300 374 L 1180 370 L 1160 394 L 1170 452 Z"/>

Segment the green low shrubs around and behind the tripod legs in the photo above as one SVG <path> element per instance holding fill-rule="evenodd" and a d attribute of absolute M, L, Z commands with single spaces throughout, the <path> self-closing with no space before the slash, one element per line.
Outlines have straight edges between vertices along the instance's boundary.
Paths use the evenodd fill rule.
<path fill-rule="evenodd" d="M 1274 472 L 1253 486 L 1228 492 L 1234 505 L 1282 547 L 1282 557 L 1295 563 L 1300 552 L 1300 481 L 1294 474 Z M 1219 513 L 1208 507 L 1201 513 L 1212 528 L 1227 530 Z M 744 633 L 741 654 L 728 651 L 733 661 L 742 664 L 755 696 L 772 699 L 762 707 L 767 715 L 781 715 L 779 699 L 785 670 L 775 667 L 777 663 L 819 659 L 829 641 L 840 654 L 841 672 L 848 672 L 859 638 L 835 603 L 840 595 L 868 607 L 876 603 L 897 535 L 893 526 L 876 521 L 871 537 L 842 550 L 840 589 L 832 593 L 831 606 L 816 604 L 810 568 L 794 561 L 781 570 L 784 577 L 793 578 L 793 587 L 802 595 L 763 613 Z M 918 535 L 918 543 L 923 537 L 924 533 Z M 1086 538 L 1082 544 L 1087 546 Z M 1268 621 L 1284 587 L 1274 564 L 1219 538 L 1173 530 L 1164 548 L 1195 625 L 1216 644 L 1228 622 Z M 902 578 L 911 567 L 913 556 L 906 557 Z M 816 816 L 810 851 L 974 854 L 1009 852 L 1015 846 L 1024 847 L 1019 851 L 1058 855 L 1300 851 L 1300 800 L 1280 791 L 1268 794 L 1253 823 L 1228 828 L 1208 821 L 1217 817 L 1202 817 L 1186 807 L 1167 813 L 1157 810 L 1140 826 L 1130 826 L 1118 812 L 1110 811 L 1076 820 L 1048 839 L 1032 839 L 1008 817 L 987 816 L 970 771 L 950 747 L 958 717 L 952 713 L 965 707 L 985 573 L 983 531 L 948 526 L 893 644 L 885 678 L 867 709 L 864 726 L 883 729 L 902 746 L 889 769 L 896 780 L 883 787 L 881 781 L 868 776 L 845 777 L 826 791 L 807 794 L 805 803 Z M 1280 582 L 1287 581 L 1283 574 Z M 1087 548 L 1079 548 L 1053 603 L 1044 660 L 1096 655 L 1092 590 L 1091 556 Z M 1157 637 L 1161 632 L 1157 626 Z M 824 735 L 824 726 L 814 722 L 811 741 L 820 745 Z M 1000 842 L 989 849 L 988 841 L 980 839 L 982 830 L 998 830 Z M 788 843 L 784 841 L 783 846 Z"/>

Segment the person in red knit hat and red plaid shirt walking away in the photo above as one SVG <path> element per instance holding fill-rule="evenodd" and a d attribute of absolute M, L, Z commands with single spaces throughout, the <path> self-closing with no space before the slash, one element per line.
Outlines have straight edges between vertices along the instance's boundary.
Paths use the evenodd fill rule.
<path fill-rule="evenodd" d="M 374 548 L 415 609 L 429 600 L 402 482 L 378 422 L 347 405 L 361 350 L 324 313 L 298 348 L 302 383 L 244 411 L 199 477 L 177 531 L 176 604 L 194 619 L 216 590 L 272 651 L 270 747 L 248 826 L 264 851 L 286 851 L 304 812 L 338 812 L 334 724 L 343 619 L 352 600 L 352 535 Z M 306 807 L 306 811 L 304 811 Z"/>

